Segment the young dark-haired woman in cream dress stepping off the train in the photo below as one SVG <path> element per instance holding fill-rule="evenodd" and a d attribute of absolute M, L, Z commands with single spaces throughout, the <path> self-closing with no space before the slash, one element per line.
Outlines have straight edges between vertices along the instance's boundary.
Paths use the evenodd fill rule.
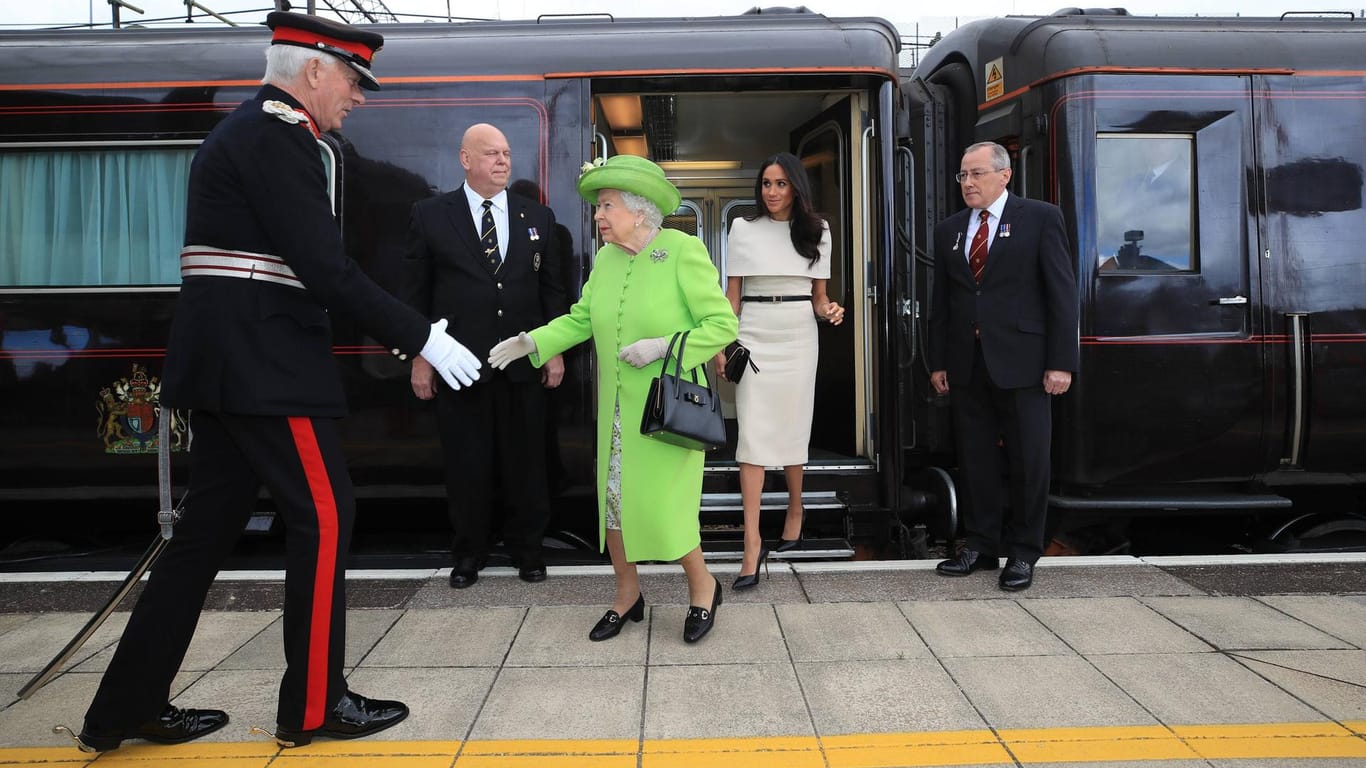
<path fill-rule="evenodd" d="M 810 189 L 800 160 L 785 152 L 769 157 L 754 182 L 761 212 L 736 219 L 727 239 L 725 295 L 740 318 L 739 342 L 758 369 L 735 385 L 744 560 L 734 589 L 757 585 L 759 562 L 768 556 L 759 536 L 766 466 L 781 466 L 787 477 L 787 519 L 775 551 L 800 543 L 802 466 L 816 406 L 816 323 L 844 320 L 844 309 L 825 295 L 831 230 L 811 210 Z M 723 353 L 721 370 L 724 361 Z"/>

